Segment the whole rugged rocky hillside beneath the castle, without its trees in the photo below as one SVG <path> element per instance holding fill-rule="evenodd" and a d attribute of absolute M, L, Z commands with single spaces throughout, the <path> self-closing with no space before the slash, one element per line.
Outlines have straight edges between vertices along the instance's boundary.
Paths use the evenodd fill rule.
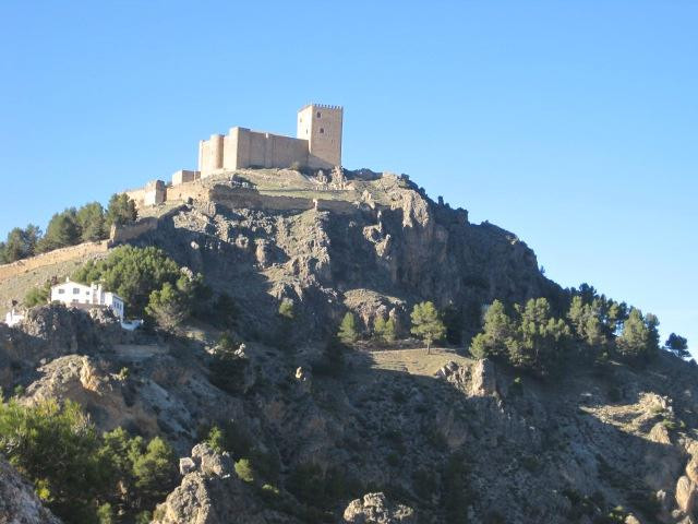
<path fill-rule="evenodd" d="M 198 198 L 148 210 L 128 240 L 232 297 L 233 386 L 214 385 L 220 331 L 206 322 L 125 333 L 108 314 L 45 306 L 0 327 L 0 385 L 23 386 L 20 402 L 74 400 L 100 430 L 174 446 L 179 486 L 152 522 L 695 522 L 694 366 L 661 353 L 541 380 L 473 359 L 483 305 L 564 300 L 524 242 L 401 177 L 348 174 L 337 190 L 299 174 L 265 186 L 272 175 L 203 181 Z M 285 299 L 292 332 L 279 331 Z M 327 353 L 347 310 L 366 333 L 390 317 L 406 338 L 421 300 L 460 319 L 459 344 Z M 225 452 L 202 443 L 214 425 Z M 14 478 L 0 465 L 0 490 Z M 53 522 L 23 516 L 27 504 L 0 502 L 0 522 Z"/>

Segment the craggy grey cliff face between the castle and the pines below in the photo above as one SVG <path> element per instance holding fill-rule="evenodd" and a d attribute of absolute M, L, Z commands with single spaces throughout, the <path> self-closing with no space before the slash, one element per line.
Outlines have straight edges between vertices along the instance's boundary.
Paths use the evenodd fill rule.
<path fill-rule="evenodd" d="M 381 312 L 392 312 L 402 325 L 412 303 L 433 300 L 470 319 L 468 331 L 495 298 L 521 301 L 559 293 L 516 236 L 469 224 L 466 211 L 435 203 L 395 176 L 354 180 L 353 190 L 330 192 L 335 200 L 317 193 L 316 209 L 305 209 L 299 202 L 309 200 L 300 198 L 257 209 L 266 204 L 240 201 L 241 190 L 231 182 L 207 183 L 208 200 L 165 214 L 131 242 L 159 246 L 201 272 L 243 306 L 244 325 L 258 333 L 268 332 L 281 298 L 297 303 L 302 325 L 317 335 L 334 329 L 345 307 L 370 329 L 373 315 L 362 307 L 364 299 L 381 302 Z M 241 203 L 252 207 L 237 207 Z"/>

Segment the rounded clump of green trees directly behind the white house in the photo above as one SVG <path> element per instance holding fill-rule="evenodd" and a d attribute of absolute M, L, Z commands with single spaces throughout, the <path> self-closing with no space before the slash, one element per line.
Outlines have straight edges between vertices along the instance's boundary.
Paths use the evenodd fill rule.
<path fill-rule="evenodd" d="M 101 282 L 123 298 L 132 315 L 143 314 L 151 294 L 165 283 L 176 285 L 182 272 L 164 251 L 154 248 L 120 246 L 104 260 L 88 261 L 73 275 L 83 284 Z"/>

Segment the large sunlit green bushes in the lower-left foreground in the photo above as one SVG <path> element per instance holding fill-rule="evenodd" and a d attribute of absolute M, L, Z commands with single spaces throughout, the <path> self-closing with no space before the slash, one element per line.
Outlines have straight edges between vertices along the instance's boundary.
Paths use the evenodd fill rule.
<path fill-rule="evenodd" d="M 124 514 L 153 508 L 177 480 L 174 455 L 161 439 L 146 445 L 122 429 L 100 438 L 71 402 L 0 404 L 0 453 L 67 523 L 116 522 L 117 508 Z"/>

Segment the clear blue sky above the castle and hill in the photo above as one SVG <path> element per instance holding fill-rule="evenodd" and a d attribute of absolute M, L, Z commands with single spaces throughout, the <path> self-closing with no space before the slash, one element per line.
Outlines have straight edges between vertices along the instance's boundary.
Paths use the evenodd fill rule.
<path fill-rule="evenodd" d="M 345 106 L 407 172 L 698 349 L 698 3 L 0 3 L 0 235 Z"/>

